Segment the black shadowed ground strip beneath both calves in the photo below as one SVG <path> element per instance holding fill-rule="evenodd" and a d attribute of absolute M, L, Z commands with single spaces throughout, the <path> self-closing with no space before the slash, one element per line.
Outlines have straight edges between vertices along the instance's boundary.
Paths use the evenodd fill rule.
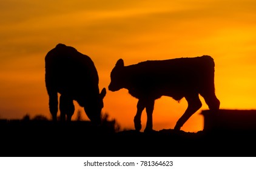
<path fill-rule="evenodd" d="M 0 156 L 256 156 L 255 130 L 151 133 L 52 121 L 1 121 Z"/>

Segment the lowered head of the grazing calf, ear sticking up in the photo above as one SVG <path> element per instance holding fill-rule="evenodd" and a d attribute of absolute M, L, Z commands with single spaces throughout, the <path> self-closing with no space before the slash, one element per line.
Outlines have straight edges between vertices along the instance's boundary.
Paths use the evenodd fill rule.
<path fill-rule="evenodd" d="M 101 124 L 101 109 L 103 109 L 103 98 L 106 95 L 106 88 L 103 88 L 100 94 L 90 97 L 84 105 L 86 115 L 94 124 Z"/>

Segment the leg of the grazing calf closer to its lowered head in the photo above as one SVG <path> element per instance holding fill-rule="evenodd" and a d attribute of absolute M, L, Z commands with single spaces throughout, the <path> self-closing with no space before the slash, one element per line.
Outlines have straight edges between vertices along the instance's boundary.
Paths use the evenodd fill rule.
<path fill-rule="evenodd" d="M 61 95 L 59 98 L 59 110 L 61 112 L 61 121 L 66 120 L 66 115 L 67 121 L 71 121 L 71 117 L 75 111 L 73 100 L 66 95 Z"/>

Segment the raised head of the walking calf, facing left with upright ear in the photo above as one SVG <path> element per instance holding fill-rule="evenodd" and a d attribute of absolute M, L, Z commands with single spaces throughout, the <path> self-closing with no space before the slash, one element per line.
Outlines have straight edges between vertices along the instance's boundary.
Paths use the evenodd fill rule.
<path fill-rule="evenodd" d="M 110 74 L 110 84 L 109 84 L 109 91 L 115 92 L 123 88 L 121 77 L 123 76 L 121 74 L 122 69 L 124 68 L 124 60 L 119 59 L 115 67 L 112 69 Z"/>

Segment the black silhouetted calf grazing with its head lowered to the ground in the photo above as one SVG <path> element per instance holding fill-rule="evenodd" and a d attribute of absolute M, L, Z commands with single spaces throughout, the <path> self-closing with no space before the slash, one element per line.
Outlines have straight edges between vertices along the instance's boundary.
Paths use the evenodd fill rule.
<path fill-rule="evenodd" d="M 98 72 L 89 56 L 61 43 L 51 49 L 45 56 L 45 85 L 53 121 L 57 120 L 59 93 L 61 121 L 66 116 L 71 121 L 76 100 L 90 121 L 99 124 L 106 89 L 99 93 L 98 82 Z"/>

